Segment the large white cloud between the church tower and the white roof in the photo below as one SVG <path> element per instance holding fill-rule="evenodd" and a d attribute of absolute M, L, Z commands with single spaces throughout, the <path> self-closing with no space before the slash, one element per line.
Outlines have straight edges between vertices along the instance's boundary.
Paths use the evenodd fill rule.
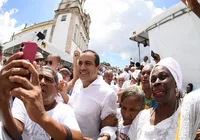
<path fill-rule="evenodd" d="M 138 47 L 129 40 L 133 30 L 164 10 L 151 0 L 86 0 L 85 9 L 92 19 L 90 49 L 100 55 L 107 51 L 135 60 Z M 149 48 L 141 47 L 141 57 L 147 51 Z"/>

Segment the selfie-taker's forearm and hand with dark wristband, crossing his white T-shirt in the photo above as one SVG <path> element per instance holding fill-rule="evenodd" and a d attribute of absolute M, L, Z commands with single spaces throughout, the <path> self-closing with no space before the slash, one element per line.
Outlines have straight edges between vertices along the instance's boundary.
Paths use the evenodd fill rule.
<path fill-rule="evenodd" d="M 10 76 L 12 83 L 18 83 L 21 87 L 11 90 L 10 94 L 19 98 L 27 111 L 29 118 L 39 124 L 54 140 L 65 140 L 68 136 L 65 127 L 47 115 L 42 98 L 39 77 L 35 67 L 24 60 L 21 60 L 22 67 L 31 73 L 31 80 L 21 76 Z M 31 82 L 30 82 L 31 81 Z M 72 130 L 74 139 L 82 139 L 80 131 Z M 56 133 L 55 133 L 56 132 Z"/>

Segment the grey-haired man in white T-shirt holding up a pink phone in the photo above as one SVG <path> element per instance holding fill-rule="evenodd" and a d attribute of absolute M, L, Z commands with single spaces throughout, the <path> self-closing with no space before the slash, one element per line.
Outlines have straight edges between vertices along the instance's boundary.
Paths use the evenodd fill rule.
<path fill-rule="evenodd" d="M 68 137 L 82 140 L 72 108 L 54 99 L 58 84 L 56 72 L 44 66 L 38 73 L 36 64 L 34 67 L 22 60 L 22 56 L 19 52 L 10 57 L 0 73 L 0 110 L 6 132 L 12 139 L 19 139 L 23 134 L 25 140 Z M 12 113 L 11 96 L 16 97 Z"/>

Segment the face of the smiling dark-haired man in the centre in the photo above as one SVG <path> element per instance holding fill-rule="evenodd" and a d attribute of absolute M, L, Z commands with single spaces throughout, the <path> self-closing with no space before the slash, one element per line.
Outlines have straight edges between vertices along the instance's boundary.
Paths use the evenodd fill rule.
<path fill-rule="evenodd" d="M 83 85 L 88 86 L 97 79 L 99 66 L 95 65 L 95 55 L 92 52 L 82 53 L 78 62 L 79 78 Z"/>

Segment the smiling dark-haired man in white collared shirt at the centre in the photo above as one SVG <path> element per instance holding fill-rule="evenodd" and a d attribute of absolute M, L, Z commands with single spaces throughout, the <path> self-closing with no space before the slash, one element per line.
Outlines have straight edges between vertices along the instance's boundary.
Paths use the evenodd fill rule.
<path fill-rule="evenodd" d="M 116 127 L 101 128 L 101 121 L 117 113 L 114 90 L 98 76 L 100 58 L 92 50 L 83 51 L 78 61 L 80 79 L 75 83 L 69 104 L 84 137 L 94 140 L 115 140 Z"/>

